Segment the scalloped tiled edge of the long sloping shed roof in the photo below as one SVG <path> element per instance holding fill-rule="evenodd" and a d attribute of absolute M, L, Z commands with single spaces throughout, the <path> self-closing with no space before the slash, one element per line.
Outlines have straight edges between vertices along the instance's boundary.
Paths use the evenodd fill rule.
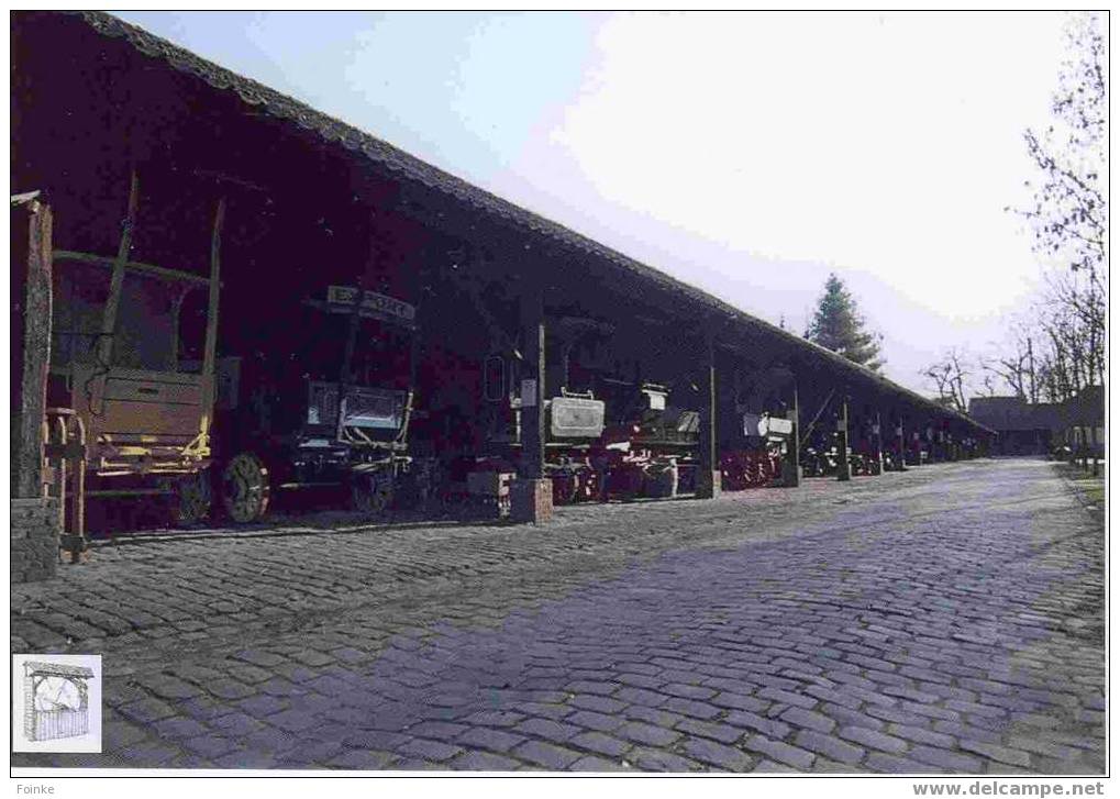
<path fill-rule="evenodd" d="M 930 398 L 911 391 L 865 366 L 847 360 L 831 350 L 827 350 L 764 319 L 752 316 L 694 286 L 690 286 L 653 267 L 636 261 L 557 222 L 534 214 L 506 199 L 502 199 L 363 130 L 317 111 L 252 78 L 244 77 L 225 67 L 218 66 L 178 45 L 149 34 L 142 28 L 129 25 L 112 15 L 101 11 L 80 11 L 77 13 L 97 32 L 110 37 L 123 37 L 144 55 L 160 58 L 176 69 L 193 74 L 217 90 L 235 92 L 243 102 L 262 108 L 272 117 L 288 120 L 300 128 L 315 131 L 327 142 L 336 143 L 355 154 L 361 152 L 394 175 L 418 182 L 431 189 L 450 195 L 483 214 L 505 220 L 526 232 L 610 262 L 633 276 L 655 284 L 662 289 L 683 295 L 729 319 L 760 328 L 767 334 L 799 347 L 799 350 L 812 353 L 831 363 L 857 380 L 905 397 L 911 402 L 917 402 L 921 406 L 927 407 L 931 412 L 954 417 L 969 425 L 987 429 L 974 419 L 937 406 Z M 992 430 L 988 431 L 992 433 Z"/>

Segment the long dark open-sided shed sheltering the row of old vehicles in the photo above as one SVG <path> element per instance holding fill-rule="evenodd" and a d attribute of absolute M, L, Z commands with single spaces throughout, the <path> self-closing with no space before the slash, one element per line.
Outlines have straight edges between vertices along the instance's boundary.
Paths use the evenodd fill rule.
<path fill-rule="evenodd" d="M 805 430 L 794 442 L 839 424 L 846 436 L 874 438 L 879 449 L 912 447 L 917 433 L 946 457 L 962 442 L 990 434 L 836 353 L 112 16 L 17 12 L 11 27 L 12 183 L 49 197 L 56 251 L 109 259 L 121 240 L 129 176 L 137 174 L 131 258 L 204 280 L 214 208 L 225 204 L 217 356 L 236 368 L 218 369 L 234 394 L 224 403 L 218 397 L 220 463 L 254 446 L 254 436 L 271 435 L 263 422 L 250 426 L 223 412 L 267 405 L 268 396 L 254 399 L 254 387 L 258 394 L 301 390 L 286 380 L 307 379 L 306 363 L 265 379 L 264 365 L 253 371 L 254 357 L 301 351 L 319 327 L 307 316 L 308 301 L 321 301 L 330 286 L 361 287 L 414 309 L 412 356 L 396 368 L 399 377 L 412 370 L 400 380 L 414 391 L 414 452 L 477 449 L 479 419 L 493 412 L 485 359 L 515 355 L 515 369 L 501 370 L 500 393 L 519 390 L 519 465 L 530 483 L 545 473 L 545 400 L 561 387 L 605 381 L 664 384 L 670 402 L 699 411 L 697 489 L 707 495 L 719 490 L 720 448 L 735 446 L 744 409 L 792 414 Z M 193 306 L 159 300 L 184 303 L 165 336 L 176 363 L 203 357 L 202 294 Z M 143 314 L 142 304 L 129 313 Z M 153 312 L 151 325 L 165 318 Z M 151 329 L 138 353 L 155 346 Z M 325 346 L 339 349 L 344 338 L 339 331 Z M 276 359 L 269 363 L 276 372 Z M 796 446 L 790 458 L 797 462 Z"/>

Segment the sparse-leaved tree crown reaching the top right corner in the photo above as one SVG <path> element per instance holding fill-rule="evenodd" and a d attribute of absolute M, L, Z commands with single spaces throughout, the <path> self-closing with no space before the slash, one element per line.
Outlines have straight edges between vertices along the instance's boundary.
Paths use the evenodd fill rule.
<path fill-rule="evenodd" d="M 983 370 L 1030 401 L 1061 402 L 1103 384 L 1108 317 L 1108 47 L 1095 13 L 1066 28 L 1070 57 L 1051 97 L 1052 124 L 1024 134 L 1038 177 L 1034 205 L 1017 208 L 1033 248 L 1058 269 L 1008 346 Z"/>

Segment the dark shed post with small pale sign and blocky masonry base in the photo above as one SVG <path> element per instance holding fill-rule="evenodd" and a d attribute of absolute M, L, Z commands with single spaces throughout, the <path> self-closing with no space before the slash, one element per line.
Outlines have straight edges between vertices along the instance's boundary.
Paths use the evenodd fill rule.
<path fill-rule="evenodd" d="M 542 523 L 552 517 L 552 481 L 544 475 L 544 292 L 535 281 L 526 286 L 521 296 L 521 328 L 525 342 L 525 369 L 521 381 L 521 473 L 512 486 L 510 514 L 514 521 Z"/>

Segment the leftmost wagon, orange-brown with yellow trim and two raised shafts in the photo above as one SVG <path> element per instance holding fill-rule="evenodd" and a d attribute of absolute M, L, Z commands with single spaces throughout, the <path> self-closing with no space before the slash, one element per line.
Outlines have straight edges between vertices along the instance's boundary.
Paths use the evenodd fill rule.
<path fill-rule="evenodd" d="M 205 278 L 129 259 L 137 193 L 133 175 L 115 258 L 54 251 L 52 405 L 72 408 L 85 429 L 84 471 L 94 479 L 85 481 L 86 496 L 170 494 L 175 521 L 192 523 L 209 513 L 212 501 L 225 202 L 217 205 Z M 180 312 L 202 289 L 202 357 L 184 360 Z"/>

